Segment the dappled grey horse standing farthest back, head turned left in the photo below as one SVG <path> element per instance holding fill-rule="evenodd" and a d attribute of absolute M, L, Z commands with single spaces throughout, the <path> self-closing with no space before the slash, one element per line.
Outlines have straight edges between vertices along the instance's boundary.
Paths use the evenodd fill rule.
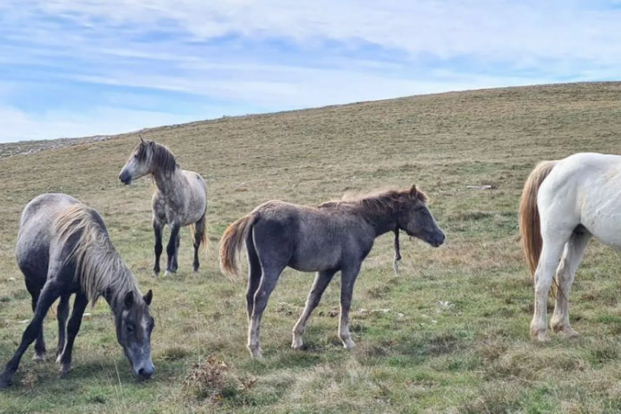
<path fill-rule="evenodd" d="M 168 263 L 165 276 L 177 271 L 179 229 L 190 226 L 194 243 L 194 272 L 198 271 L 198 250 L 207 245 L 205 214 L 207 212 L 207 190 L 205 180 L 194 171 L 181 169 L 173 153 L 163 145 L 145 141 L 140 137 L 129 161 L 120 170 L 119 179 L 131 184 L 147 174 L 152 174 L 157 190 L 152 197 L 153 232 L 155 233 L 155 265 L 153 272 L 160 273 L 162 251 L 161 231 L 170 225 L 170 240 L 166 246 Z"/>

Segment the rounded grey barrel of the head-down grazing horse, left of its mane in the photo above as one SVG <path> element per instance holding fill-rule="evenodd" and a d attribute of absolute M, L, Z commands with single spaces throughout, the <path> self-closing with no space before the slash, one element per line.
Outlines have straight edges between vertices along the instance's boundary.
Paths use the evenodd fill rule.
<path fill-rule="evenodd" d="M 74 197 L 59 193 L 40 194 L 30 200 L 22 211 L 17 233 L 17 265 L 27 278 L 47 277 L 53 225 L 58 215 L 73 204 Z"/>

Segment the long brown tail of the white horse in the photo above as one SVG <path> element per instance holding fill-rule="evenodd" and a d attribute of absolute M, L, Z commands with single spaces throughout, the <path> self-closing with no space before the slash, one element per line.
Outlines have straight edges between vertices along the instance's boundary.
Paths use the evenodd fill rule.
<path fill-rule="evenodd" d="M 538 163 L 526 179 L 524 190 L 522 190 L 522 197 L 520 197 L 520 240 L 524 258 L 528 264 L 530 276 L 533 279 L 543 245 L 539 210 L 537 208 L 537 194 L 543 180 L 550 174 L 556 163 L 557 161 L 542 161 Z"/>

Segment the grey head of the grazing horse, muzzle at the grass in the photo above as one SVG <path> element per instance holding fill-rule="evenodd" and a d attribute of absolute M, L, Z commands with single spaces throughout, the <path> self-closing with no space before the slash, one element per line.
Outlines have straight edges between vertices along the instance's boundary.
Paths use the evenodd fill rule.
<path fill-rule="evenodd" d="M 132 364 L 134 374 L 148 379 L 155 372 L 151 361 L 151 332 L 155 326 L 149 313 L 153 292 L 143 297 L 134 297 L 131 290 L 125 294 L 124 304 L 116 315 L 117 340 Z"/>

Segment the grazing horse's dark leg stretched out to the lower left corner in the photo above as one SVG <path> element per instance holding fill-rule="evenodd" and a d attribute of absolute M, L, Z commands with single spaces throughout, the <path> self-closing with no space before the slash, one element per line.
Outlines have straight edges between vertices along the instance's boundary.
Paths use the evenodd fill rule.
<path fill-rule="evenodd" d="M 13 357 L 6 364 L 4 372 L 0 374 L 0 389 L 6 388 L 11 384 L 13 376 L 17 371 L 17 367 L 19 367 L 19 361 L 22 359 L 26 349 L 28 349 L 30 344 L 39 336 L 43 329 L 43 319 L 45 318 L 47 311 L 50 309 L 50 306 L 52 306 L 59 296 L 60 284 L 54 279 L 48 279 L 48 281 L 45 282 L 45 285 L 43 285 L 43 289 L 41 289 L 41 294 L 39 295 L 39 300 L 37 301 L 37 306 L 35 307 L 35 315 L 32 318 L 32 321 L 30 321 L 22 334 L 22 340 L 13 354 Z"/>

